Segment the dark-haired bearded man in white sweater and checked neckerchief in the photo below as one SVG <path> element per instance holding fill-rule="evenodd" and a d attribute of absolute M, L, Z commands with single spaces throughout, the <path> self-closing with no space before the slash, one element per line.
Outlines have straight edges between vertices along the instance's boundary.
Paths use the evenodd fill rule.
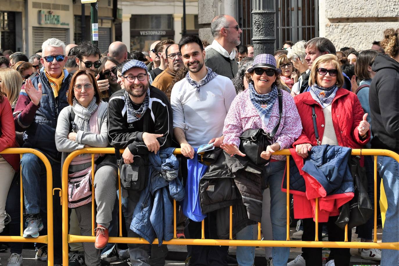
<path fill-rule="evenodd" d="M 188 73 L 174 85 L 170 97 L 173 134 L 182 154 L 192 159 L 194 148 L 207 143 L 219 147 L 223 143 L 224 120 L 236 93 L 230 79 L 205 67 L 205 51 L 198 37 L 183 37 L 179 49 Z M 200 238 L 201 223 L 189 220 L 186 229 L 190 238 Z M 223 266 L 227 251 L 228 246 L 195 246 L 189 251 L 190 264 Z"/>

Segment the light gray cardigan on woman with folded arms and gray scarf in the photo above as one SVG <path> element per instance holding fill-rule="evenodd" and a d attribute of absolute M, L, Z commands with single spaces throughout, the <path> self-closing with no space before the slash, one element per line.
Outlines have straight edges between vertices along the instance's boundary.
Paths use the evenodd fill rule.
<path fill-rule="evenodd" d="M 55 129 L 55 146 L 59 152 L 62 152 L 61 166 L 67 158 L 68 154 L 82 149 L 85 144 L 91 147 L 105 148 L 109 146 L 108 142 L 108 129 L 107 129 L 107 102 L 101 101 L 97 111 L 97 123 L 100 134 L 91 132 L 77 131 L 76 141 L 67 138 L 70 128 L 69 114 L 71 113 L 72 106 L 67 106 L 61 110 L 57 120 L 57 128 Z M 75 123 L 79 117 L 75 116 Z"/>

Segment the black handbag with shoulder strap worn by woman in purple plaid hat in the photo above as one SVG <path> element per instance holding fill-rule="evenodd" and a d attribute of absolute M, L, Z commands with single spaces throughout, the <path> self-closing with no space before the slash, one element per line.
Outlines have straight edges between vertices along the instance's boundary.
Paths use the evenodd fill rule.
<path fill-rule="evenodd" d="M 240 136 L 239 150 L 243 152 L 254 164 L 265 165 L 270 161 L 261 158 L 261 153 L 266 150 L 267 146 L 271 145 L 271 140 L 274 138 L 280 126 L 282 116 L 282 93 L 280 88 L 277 87 L 279 93 L 279 122 L 269 134 L 262 128 L 248 129 Z"/>

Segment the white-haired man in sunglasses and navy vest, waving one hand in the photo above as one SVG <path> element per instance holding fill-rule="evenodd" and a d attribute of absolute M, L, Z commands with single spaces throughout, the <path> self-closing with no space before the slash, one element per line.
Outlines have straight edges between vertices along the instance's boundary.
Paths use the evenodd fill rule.
<path fill-rule="evenodd" d="M 61 152 L 55 147 L 55 128 L 61 110 L 68 106 L 67 91 L 71 75 L 64 68 L 65 43 L 56 38 L 42 45 L 40 62 L 43 67 L 38 76 L 22 85 L 14 110 L 16 130 L 24 132 L 24 148 L 34 148 L 46 155 L 53 172 L 53 188 L 61 187 Z M 38 237 L 47 226 L 46 168 L 34 154 L 26 153 L 21 159 L 22 185 L 27 213 L 24 237 Z M 61 235 L 61 205 L 57 193 L 53 196 L 53 232 Z M 43 219 L 43 220 L 42 220 Z M 44 230 L 45 231 L 45 230 Z M 44 233 L 46 234 L 46 233 Z M 54 238 L 54 265 L 62 263 L 62 241 Z M 47 259 L 47 246 L 37 247 L 36 258 Z"/>

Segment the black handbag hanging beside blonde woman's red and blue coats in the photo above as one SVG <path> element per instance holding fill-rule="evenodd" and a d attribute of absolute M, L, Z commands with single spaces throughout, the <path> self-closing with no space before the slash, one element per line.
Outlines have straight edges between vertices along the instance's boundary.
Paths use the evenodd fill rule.
<path fill-rule="evenodd" d="M 365 169 L 360 166 L 358 156 L 352 156 L 348 164 L 354 181 L 355 195 L 341 207 L 340 215 L 335 222 L 341 229 L 344 229 L 346 224 L 349 229 L 364 225 L 374 213 L 373 205 L 367 194 Z"/>

